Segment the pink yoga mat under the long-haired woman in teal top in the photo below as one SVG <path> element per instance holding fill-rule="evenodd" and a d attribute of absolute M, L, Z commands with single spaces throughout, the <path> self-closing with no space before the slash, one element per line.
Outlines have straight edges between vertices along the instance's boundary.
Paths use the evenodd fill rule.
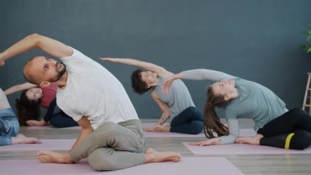
<path fill-rule="evenodd" d="M 198 140 L 201 141 L 201 140 Z M 304 150 L 282 149 L 270 146 L 248 145 L 248 144 L 227 144 L 211 146 L 192 146 L 184 142 L 183 144 L 194 155 L 258 155 L 258 154 L 311 154 L 311 148 Z"/>

